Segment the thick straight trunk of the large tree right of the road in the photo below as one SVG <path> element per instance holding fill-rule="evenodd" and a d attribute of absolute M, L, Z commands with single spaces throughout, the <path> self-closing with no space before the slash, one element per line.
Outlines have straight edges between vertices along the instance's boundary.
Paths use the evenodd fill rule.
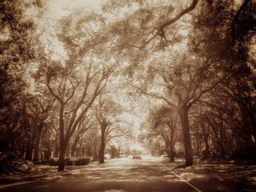
<path fill-rule="evenodd" d="M 191 140 L 190 140 L 189 116 L 188 116 L 187 104 L 181 105 L 181 109 L 179 110 L 179 117 L 181 119 L 181 127 L 182 127 L 183 137 L 184 137 L 184 150 L 185 150 L 184 152 L 185 152 L 186 165 L 192 166 L 193 153 L 192 153 L 192 146 L 191 146 Z"/>

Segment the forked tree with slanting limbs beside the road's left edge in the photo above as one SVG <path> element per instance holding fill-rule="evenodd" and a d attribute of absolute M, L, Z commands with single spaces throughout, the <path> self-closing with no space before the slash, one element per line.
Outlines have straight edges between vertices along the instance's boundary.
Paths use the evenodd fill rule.
<path fill-rule="evenodd" d="M 71 15 L 79 13 L 72 12 Z M 108 39 L 102 37 L 104 33 L 100 34 L 104 31 L 95 30 L 91 23 L 100 28 L 104 20 L 94 13 L 79 21 L 72 17 L 60 20 L 58 38 L 63 43 L 66 58 L 56 61 L 56 58 L 43 56 L 37 74 L 59 104 L 59 171 L 64 170 L 69 139 L 94 101 L 105 90 L 108 78 L 118 64 L 111 55 L 101 51 L 105 47 L 99 46 L 99 42 L 104 44 Z M 70 34 L 74 26 L 77 30 Z M 84 34 L 85 29 L 89 34 L 99 36 Z"/>

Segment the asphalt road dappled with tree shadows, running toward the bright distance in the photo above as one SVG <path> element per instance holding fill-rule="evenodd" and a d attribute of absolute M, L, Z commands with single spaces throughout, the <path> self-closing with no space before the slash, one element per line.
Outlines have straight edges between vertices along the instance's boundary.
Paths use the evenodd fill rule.
<path fill-rule="evenodd" d="M 168 169 L 159 158 L 120 158 L 0 191 L 204 191 L 197 187 Z"/>

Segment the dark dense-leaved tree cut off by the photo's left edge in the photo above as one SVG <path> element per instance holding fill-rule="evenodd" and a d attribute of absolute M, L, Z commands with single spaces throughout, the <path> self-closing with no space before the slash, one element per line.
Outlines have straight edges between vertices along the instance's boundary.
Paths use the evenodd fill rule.
<path fill-rule="evenodd" d="M 34 59 L 34 31 L 36 23 L 26 15 L 26 8 L 35 8 L 34 18 L 42 9 L 40 1 L 0 2 L 0 125 L 2 151 L 15 153 L 23 150 L 23 127 L 20 120 L 23 101 L 29 95 L 26 80 L 27 66 Z M 36 41 L 36 40 L 35 40 Z M 23 155 L 23 153 L 22 153 Z"/>

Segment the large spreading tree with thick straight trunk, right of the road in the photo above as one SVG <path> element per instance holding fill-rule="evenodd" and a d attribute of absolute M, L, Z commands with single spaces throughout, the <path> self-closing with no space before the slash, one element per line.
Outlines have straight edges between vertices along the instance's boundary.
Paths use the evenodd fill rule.
<path fill-rule="evenodd" d="M 191 9 L 189 9 L 189 11 L 195 8 L 196 4 L 197 1 L 192 1 Z M 246 15 L 246 19 L 244 20 L 250 20 L 250 22 L 253 22 L 251 10 L 254 9 L 254 5 L 250 4 L 250 8 L 252 9 L 248 12 L 245 11 L 246 6 L 249 6 L 249 1 L 245 1 L 244 4 L 241 4 L 241 7 L 236 10 L 234 10 L 233 7 L 228 7 L 227 1 L 221 1 L 216 4 L 211 3 L 211 1 L 204 2 L 200 4 L 200 8 L 198 8 L 197 12 L 193 12 L 194 15 L 192 15 L 192 18 L 197 18 L 197 20 L 200 20 L 201 22 L 191 23 L 191 20 L 186 18 L 187 20 L 181 23 L 176 23 L 176 27 L 167 28 L 169 24 L 174 24 L 178 19 L 163 22 L 166 23 L 165 26 L 165 24 L 161 24 L 161 21 L 165 20 L 165 18 L 152 17 L 152 15 L 154 15 L 154 12 L 152 12 L 151 9 L 153 6 L 149 7 L 148 5 L 144 5 L 144 7 L 146 7 L 146 10 L 144 9 L 145 12 L 143 12 L 142 9 L 138 9 L 138 12 L 135 11 L 137 15 L 128 14 L 123 23 L 119 22 L 119 24 L 121 24 L 119 25 L 119 31 L 122 31 L 121 37 L 127 34 L 127 31 L 132 34 L 129 38 L 122 38 L 119 45 L 126 45 L 126 47 L 139 49 L 144 48 L 146 45 L 151 45 L 150 48 L 145 48 L 146 53 L 143 55 L 143 58 L 140 58 L 140 60 L 135 63 L 137 66 L 138 63 L 144 66 L 148 64 L 148 66 L 144 68 L 144 70 L 148 70 L 148 82 L 146 82 L 146 80 L 141 80 L 144 85 L 133 86 L 139 93 L 146 94 L 156 99 L 162 99 L 170 107 L 177 110 L 184 133 L 184 148 L 187 165 L 193 164 L 189 130 L 189 110 L 197 101 L 200 100 L 200 98 L 202 98 L 203 95 L 211 91 L 220 82 L 225 80 L 225 78 L 228 78 L 228 75 L 225 75 L 225 70 L 228 69 L 230 64 L 232 64 L 230 58 L 225 57 L 225 55 L 233 55 L 232 49 L 230 51 L 230 45 L 233 44 L 233 41 L 229 30 L 230 28 L 234 28 L 234 24 L 230 26 L 223 26 L 222 20 L 225 20 L 225 22 L 227 20 L 231 20 L 233 23 L 236 23 L 236 28 L 239 28 L 237 17 L 240 18 L 241 15 Z M 157 7 L 157 9 L 161 8 L 162 12 L 173 11 L 173 9 L 165 9 L 166 7 L 164 6 L 160 8 Z M 233 9 L 232 11 L 235 11 L 236 14 L 230 15 L 230 9 Z M 200 14 L 202 12 L 206 17 L 201 17 Z M 241 14 L 241 12 L 243 12 L 243 14 Z M 142 15 L 142 13 L 144 15 Z M 181 13 L 187 12 L 181 11 Z M 231 17 L 227 17 L 227 15 Z M 146 16 L 148 18 L 143 18 Z M 157 28 L 157 30 L 153 28 L 152 31 L 156 31 L 154 33 L 151 32 L 151 28 L 149 26 L 154 22 L 157 23 L 155 18 L 157 18 L 160 25 L 156 24 L 159 28 Z M 241 16 L 241 19 L 242 18 L 243 16 Z M 202 22 L 203 20 L 205 22 Z M 215 24 L 208 24 L 209 20 L 213 21 L 210 22 L 211 24 L 214 22 Z M 144 23 L 142 21 L 144 21 Z M 174 22 L 172 23 L 172 21 Z M 181 31 L 178 31 L 177 26 L 181 25 L 187 26 L 187 32 L 184 30 L 184 34 L 186 35 L 182 34 Z M 243 33 L 241 37 L 242 39 L 244 37 L 246 37 L 246 39 L 252 37 L 252 34 L 249 33 L 249 31 L 254 30 L 251 24 L 248 24 L 248 27 L 243 26 L 242 28 L 246 29 L 246 33 Z M 163 31 L 164 29 L 165 31 Z M 233 32 L 234 31 L 236 30 L 233 30 Z M 221 36 L 219 36 L 219 33 Z M 189 38 L 186 38 L 187 34 L 189 34 Z M 139 39 L 142 39 L 142 42 L 137 41 L 140 36 L 141 38 Z M 143 36 L 145 38 L 143 38 Z M 135 37 L 137 37 L 137 39 Z M 152 39 L 156 39 L 156 37 L 161 38 L 157 41 L 158 43 L 153 44 Z M 178 37 L 178 41 L 174 43 L 171 40 L 167 40 L 172 37 Z M 138 43 L 132 42 L 131 39 Z M 182 39 L 187 39 L 187 41 L 182 42 Z M 164 42 L 163 44 L 161 44 L 161 40 Z M 127 43 L 126 41 L 132 43 Z M 172 45 L 174 48 L 171 47 Z M 185 45 L 188 47 L 187 50 L 178 49 L 178 46 L 185 47 Z M 176 52 L 174 51 L 175 49 L 177 50 Z M 242 53 L 244 53 L 244 51 Z M 141 55 L 141 53 L 139 55 Z M 162 60 L 159 60 L 159 58 L 161 58 L 159 55 L 162 56 Z M 153 59 L 150 60 L 150 58 Z M 140 66 L 140 68 L 143 67 Z M 154 82 L 154 78 L 160 78 L 162 81 L 158 80 Z M 147 88 L 146 84 L 148 83 L 151 84 L 151 88 Z M 159 94 L 159 90 L 160 92 L 163 90 L 161 88 L 159 88 L 157 90 L 158 93 L 156 93 L 156 87 L 160 86 L 165 87 L 164 90 L 166 91 L 164 94 Z M 153 89 L 155 90 L 151 91 Z"/>

